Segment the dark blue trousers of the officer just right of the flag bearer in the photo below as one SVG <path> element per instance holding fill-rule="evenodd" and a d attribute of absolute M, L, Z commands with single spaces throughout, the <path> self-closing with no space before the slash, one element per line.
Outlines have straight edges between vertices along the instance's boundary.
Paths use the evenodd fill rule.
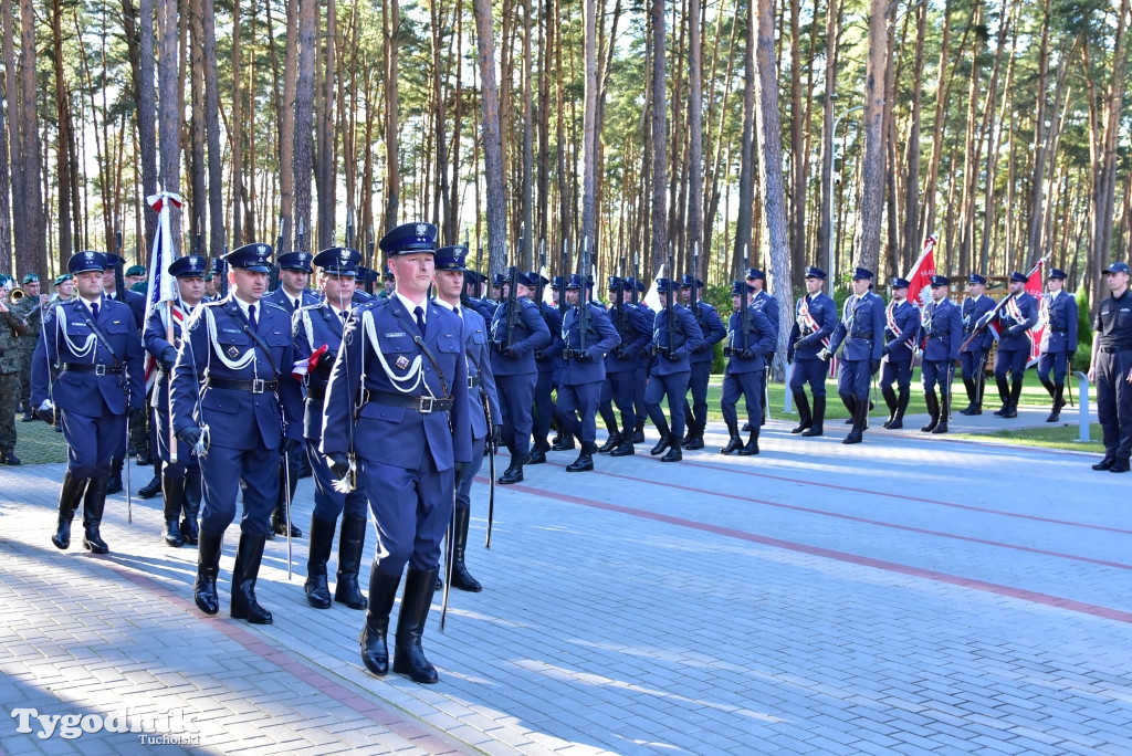
<path fill-rule="evenodd" d="M 242 493 L 240 532 L 255 536 L 266 534 L 278 497 L 278 449 L 231 449 L 217 446 L 214 439 L 208 454 L 200 459 L 204 487 L 200 530 L 209 535 L 223 535 L 235 519 L 235 500 Z"/>

